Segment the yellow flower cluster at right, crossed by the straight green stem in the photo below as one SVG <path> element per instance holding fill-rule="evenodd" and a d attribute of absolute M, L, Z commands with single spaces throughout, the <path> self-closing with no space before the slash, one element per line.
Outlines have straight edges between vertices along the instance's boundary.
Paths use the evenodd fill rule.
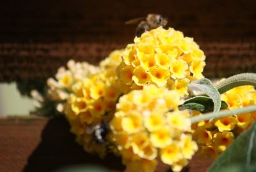
<path fill-rule="evenodd" d="M 256 104 L 256 90 L 253 86 L 241 86 L 228 90 L 221 95 L 228 103 L 228 110 Z M 201 115 L 194 112 L 195 115 Z M 202 121 L 193 125 L 195 140 L 200 145 L 200 153 L 204 156 L 218 157 L 228 145 L 256 120 L 256 113 L 233 115 L 214 119 L 211 122 Z"/>

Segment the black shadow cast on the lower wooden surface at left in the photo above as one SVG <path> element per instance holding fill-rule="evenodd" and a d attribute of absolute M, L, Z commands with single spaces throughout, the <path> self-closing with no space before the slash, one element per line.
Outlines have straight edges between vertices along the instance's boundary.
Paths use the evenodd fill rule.
<path fill-rule="evenodd" d="M 96 155 L 84 152 L 69 129 L 70 126 L 64 117 L 49 120 L 42 132 L 42 141 L 30 155 L 23 171 L 54 171 L 78 164 L 100 165 L 115 171 L 124 170 L 121 159 L 113 155 L 100 159 Z"/>

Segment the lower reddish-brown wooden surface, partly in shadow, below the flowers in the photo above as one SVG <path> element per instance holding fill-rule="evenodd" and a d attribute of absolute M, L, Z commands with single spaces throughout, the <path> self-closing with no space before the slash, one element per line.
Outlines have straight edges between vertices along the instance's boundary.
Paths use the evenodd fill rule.
<path fill-rule="evenodd" d="M 204 172 L 211 159 L 197 155 L 189 163 L 190 172 Z M 109 155 L 102 160 L 87 154 L 74 141 L 63 117 L 1 118 L 0 171 L 52 171 L 75 164 L 99 164 L 112 171 L 124 171 L 120 159 Z M 157 171 L 166 171 L 160 164 Z"/>

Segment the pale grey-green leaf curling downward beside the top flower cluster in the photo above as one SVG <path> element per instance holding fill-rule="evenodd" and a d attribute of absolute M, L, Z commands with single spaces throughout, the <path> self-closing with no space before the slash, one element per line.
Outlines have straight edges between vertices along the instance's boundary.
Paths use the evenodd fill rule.
<path fill-rule="evenodd" d="M 210 80 L 208 80 L 207 78 L 202 78 L 196 82 L 189 83 L 189 87 L 196 87 L 197 89 L 200 89 L 202 92 L 204 92 L 207 96 L 209 96 L 212 99 L 214 103 L 214 112 L 220 111 L 220 93 L 218 92 L 216 87 L 214 87 Z"/>

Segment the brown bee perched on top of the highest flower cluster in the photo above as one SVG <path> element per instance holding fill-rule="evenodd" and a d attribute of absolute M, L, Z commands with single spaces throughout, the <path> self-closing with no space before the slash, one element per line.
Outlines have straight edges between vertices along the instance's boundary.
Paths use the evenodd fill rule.
<path fill-rule="evenodd" d="M 166 27 L 167 22 L 167 17 L 159 14 L 148 14 L 147 17 L 135 18 L 125 22 L 125 24 L 138 24 L 136 36 L 140 37 L 143 32 L 156 29 L 159 26 Z"/>

